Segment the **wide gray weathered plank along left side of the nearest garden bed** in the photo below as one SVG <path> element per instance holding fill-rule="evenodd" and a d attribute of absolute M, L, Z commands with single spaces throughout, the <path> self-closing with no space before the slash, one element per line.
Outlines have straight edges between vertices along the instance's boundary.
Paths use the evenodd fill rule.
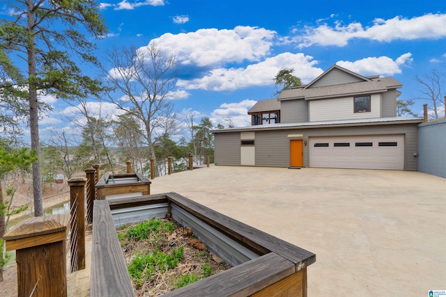
<path fill-rule="evenodd" d="M 90 296 L 134 296 L 107 200 L 93 205 Z"/>

